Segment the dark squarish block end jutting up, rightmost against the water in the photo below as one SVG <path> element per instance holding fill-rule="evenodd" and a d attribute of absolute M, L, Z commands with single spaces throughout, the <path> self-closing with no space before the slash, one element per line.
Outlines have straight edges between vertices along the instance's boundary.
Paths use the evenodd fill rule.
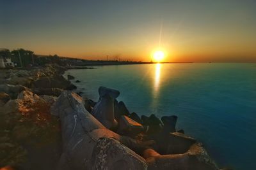
<path fill-rule="evenodd" d="M 163 131 L 168 132 L 176 132 L 176 123 L 177 123 L 177 116 L 170 116 L 170 117 L 162 117 L 161 120 L 163 122 Z"/>

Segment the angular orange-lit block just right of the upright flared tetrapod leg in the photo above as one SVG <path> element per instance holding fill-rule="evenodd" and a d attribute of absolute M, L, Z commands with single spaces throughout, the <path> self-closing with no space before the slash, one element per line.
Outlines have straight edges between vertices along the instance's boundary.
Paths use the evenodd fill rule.
<path fill-rule="evenodd" d="M 128 136 L 136 136 L 137 134 L 143 132 L 143 125 L 132 120 L 129 117 L 121 116 L 118 122 L 118 133 L 125 134 Z"/>

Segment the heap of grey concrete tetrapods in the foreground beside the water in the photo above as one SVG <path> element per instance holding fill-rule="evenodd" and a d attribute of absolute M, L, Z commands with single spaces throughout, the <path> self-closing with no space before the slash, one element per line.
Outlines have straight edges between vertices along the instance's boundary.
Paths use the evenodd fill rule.
<path fill-rule="evenodd" d="M 99 88 L 99 101 L 62 92 L 51 107 L 60 117 L 58 169 L 218 169 L 202 143 L 176 130 L 177 117 L 139 117 Z"/>

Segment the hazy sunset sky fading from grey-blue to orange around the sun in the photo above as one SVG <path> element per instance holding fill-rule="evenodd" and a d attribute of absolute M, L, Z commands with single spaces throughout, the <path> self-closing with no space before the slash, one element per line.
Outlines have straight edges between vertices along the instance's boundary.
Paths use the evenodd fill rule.
<path fill-rule="evenodd" d="M 255 0 L 0 0 L 0 48 L 82 59 L 256 62 Z"/>

